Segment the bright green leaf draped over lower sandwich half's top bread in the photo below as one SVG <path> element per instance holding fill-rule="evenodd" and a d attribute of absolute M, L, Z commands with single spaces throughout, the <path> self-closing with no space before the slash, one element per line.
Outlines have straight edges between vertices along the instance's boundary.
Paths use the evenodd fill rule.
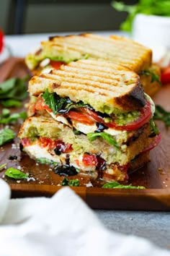
<path fill-rule="evenodd" d="M 109 144 L 113 145 L 118 151 L 120 151 L 120 147 L 116 140 L 113 139 L 112 135 L 108 135 L 106 132 L 89 132 L 86 136 L 90 141 L 96 140 L 97 137 L 102 137 Z"/>

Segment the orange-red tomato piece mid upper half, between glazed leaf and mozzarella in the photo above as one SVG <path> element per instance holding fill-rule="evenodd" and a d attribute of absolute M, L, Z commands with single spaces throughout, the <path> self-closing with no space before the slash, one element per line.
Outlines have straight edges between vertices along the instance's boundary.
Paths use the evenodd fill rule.
<path fill-rule="evenodd" d="M 67 117 L 69 117 L 71 120 L 79 121 L 83 124 L 94 124 L 95 121 L 89 118 L 89 114 L 76 112 L 76 111 L 69 111 L 68 114 L 66 114 Z"/>

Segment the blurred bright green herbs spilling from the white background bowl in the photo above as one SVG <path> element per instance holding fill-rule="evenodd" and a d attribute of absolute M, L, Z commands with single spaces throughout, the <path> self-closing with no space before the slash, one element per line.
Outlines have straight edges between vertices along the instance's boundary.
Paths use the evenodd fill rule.
<path fill-rule="evenodd" d="M 138 4 L 127 5 L 122 1 L 112 1 L 112 7 L 118 12 L 128 12 L 125 22 L 120 25 L 121 30 L 130 32 L 136 14 L 158 15 L 170 17 L 169 0 L 139 0 Z"/>

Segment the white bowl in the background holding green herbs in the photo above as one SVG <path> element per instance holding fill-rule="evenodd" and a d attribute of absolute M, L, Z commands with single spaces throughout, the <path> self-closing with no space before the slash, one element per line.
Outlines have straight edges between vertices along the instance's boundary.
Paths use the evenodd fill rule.
<path fill-rule="evenodd" d="M 133 22 L 133 39 L 153 50 L 159 61 L 170 49 L 170 17 L 137 14 Z"/>

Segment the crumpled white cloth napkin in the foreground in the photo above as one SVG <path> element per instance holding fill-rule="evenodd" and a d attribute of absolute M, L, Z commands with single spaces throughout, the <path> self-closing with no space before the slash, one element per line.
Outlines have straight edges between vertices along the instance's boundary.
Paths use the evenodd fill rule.
<path fill-rule="evenodd" d="M 10 200 L 0 179 L 0 196 L 0 256 L 170 256 L 146 239 L 105 229 L 68 187 L 51 198 Z"/>

